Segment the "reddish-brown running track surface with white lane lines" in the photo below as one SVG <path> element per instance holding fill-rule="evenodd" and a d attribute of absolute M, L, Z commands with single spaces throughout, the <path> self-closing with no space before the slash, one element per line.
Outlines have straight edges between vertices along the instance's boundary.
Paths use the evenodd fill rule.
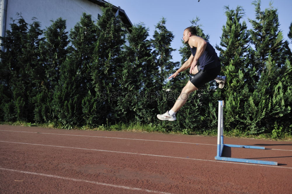
<path fill-rule="evenodd" d="M 0 193 L 292 193 L 292 142 L 0 125 Z"/>

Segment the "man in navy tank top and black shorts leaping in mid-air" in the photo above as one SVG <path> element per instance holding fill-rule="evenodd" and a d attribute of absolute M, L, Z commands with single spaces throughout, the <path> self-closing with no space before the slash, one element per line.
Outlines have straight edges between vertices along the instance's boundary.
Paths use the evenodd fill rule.
<path fill-rule="evenodd" d="M 190 58 L 168 79 L 175 78 L 180 72 L 190 68 L 192 78 L 183 88 L 180 96 L 176 100 L 171 110 L 164 114 L 157 114 L 157 118 L 164 121 L 175 121 L 175 113 L 186 103 L 189 94 L 199 89 L 207 82 L 216 80 L 219 83 L 219 88 L 223 88 L 226 76 L 218 75 L 221 70 L 220 60 L 215 52 L 215 49 L 206 40 L 197 36 L 197 31 L 193 27 L 188 27 L 183 32 L 183 40 L 190 45 Z M 197 62 L 199 61 L 199 65 Z"/>

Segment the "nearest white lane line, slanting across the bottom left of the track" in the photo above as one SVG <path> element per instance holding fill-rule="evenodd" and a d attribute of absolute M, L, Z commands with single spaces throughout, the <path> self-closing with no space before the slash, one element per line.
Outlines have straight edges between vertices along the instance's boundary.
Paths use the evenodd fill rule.
<path fill-rule="evenodd" d="M 87 180 L 83 180 L 83 179 L 73 179 L 73 178 L 69 178 L 69 177 L 60 177 L 60 176 L 51 175 L 51 174 L 43 174 L 43 173 L 37 173 L 37 172 L 28 172 L 28 171 L 14 170 L 14 169 L 2 168 L 2 167 L 0 167 L 0 170 L 6 170 L 6 171 L 12 171 L 12 172 L 19 172 L 19 173 L 25 173 L 25 174 L 33 174 L 33 175 L 39 175 L 39 176 L 44 176 L 44 177 L 52 177 L 52 178 L 57 178 L 57 179 L 65 179 L 65 180 L 69 180 L 69 181 L 78 181 L 78 182 L 93 183 L 93 184 L 102 185 L 102 186 L 116 187 L 116 188 L 122 188 L 122 189 L 130 189 L 130 190 L 135 190 L 135 191 L 146 191 L 148 193 L 163 193 L 163 194 L 168 194 L 168 193 L 161 192 L 161 191 L 152 191 L 152 190 L 149 190 L 149 189 L 142 189 L 142 188 L 122 186 L 122 185 L 114 185 L 114 184 L 100 183 L 100 182 L 95 182 L 95 181 L 87 181 Z"/>

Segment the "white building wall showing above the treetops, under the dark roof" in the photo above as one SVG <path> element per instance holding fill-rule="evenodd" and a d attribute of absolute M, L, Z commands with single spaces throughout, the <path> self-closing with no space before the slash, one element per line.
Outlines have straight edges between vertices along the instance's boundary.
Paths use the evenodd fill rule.
<path fill-rule="evenodd" d="M 91 14 L 93 21 L 98 20 L 98 14 L 102 15 L 100 6 L 88 0 L 8 0 L 6 29 L 10 29 L 11 18 L 17 19 L 17 13 L 20 13 L 29 24 L 32 17 L 36 17 L 36 21 L 41 22 L 41 29 L 49 27 L 52 24 L 50 20 L 62 17 L 66 19 L 69 31 L 84 12 Z"/>

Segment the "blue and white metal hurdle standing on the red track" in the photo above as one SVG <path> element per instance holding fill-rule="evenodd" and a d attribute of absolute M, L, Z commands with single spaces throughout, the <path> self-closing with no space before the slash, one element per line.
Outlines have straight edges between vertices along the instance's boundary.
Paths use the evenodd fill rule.
<path fill-rule="evenodd" d="M 265 147 L 223 144 L 223 107 L 224 107 L 224 100 L 218 100 L 218 102 L 219 102 L 218 103 L 218 137 L 217 137 L 217 156 L 215 156 L 215 160 L 254 163 L 254 164 L 278 165 L 278 163 L 274 162 L 274 161 L 263 161 L 263 160 L 244 159 L 244 158 L 221 157 L 222 153 L 223 153 L 224 146 L 225 147 L 251 148 L 251 149 L 265 149 Z"/>

